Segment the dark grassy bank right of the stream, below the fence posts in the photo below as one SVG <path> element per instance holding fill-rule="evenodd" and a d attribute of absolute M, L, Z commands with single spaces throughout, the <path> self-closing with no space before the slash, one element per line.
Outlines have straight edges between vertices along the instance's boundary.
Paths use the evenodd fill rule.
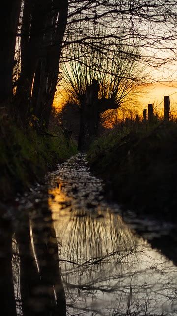
<path fill-rule="evenodd" d="M 121 127 L 95 141 L 88 159 L 114 198 L 177 219 L 177 123 Z"/>

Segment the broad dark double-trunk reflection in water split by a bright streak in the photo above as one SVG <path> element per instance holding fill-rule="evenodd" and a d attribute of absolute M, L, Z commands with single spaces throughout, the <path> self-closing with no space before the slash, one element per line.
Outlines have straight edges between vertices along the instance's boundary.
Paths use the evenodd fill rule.
<path fill-rule="evenodd" d="M 16 296 L 19 315 L 65 316 L 57 240 L 47 207 L 42 211 L 35 209 L 31 219 L 29 212 L 24 212 L 15 237 L 20 256 L 20 297 Z M 18 278 L 15 264 L 13 270 Z"/>

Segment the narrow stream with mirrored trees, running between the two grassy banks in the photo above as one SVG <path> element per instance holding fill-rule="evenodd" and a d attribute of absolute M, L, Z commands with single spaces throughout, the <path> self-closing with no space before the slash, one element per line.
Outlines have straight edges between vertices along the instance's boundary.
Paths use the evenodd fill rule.
<path fill-rule="evenodd" d="M 8 233 L 0 229 L 0 254 L 8 261 L 0 275 L 4 315 L 177 315 L 175 260 L 147 241 L 168 236 L 170 224 L 143 222 L 132 212 L 124 221 L 118 205 L 104 200 L 84 153 L 47 181 L 17 198 L 2 221 L 8 224 Z"/>

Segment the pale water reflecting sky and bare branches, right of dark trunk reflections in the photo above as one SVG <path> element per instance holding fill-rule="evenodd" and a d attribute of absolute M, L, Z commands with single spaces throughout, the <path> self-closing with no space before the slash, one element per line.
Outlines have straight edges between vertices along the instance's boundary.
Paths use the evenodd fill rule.
<path fill-rule="evenodd" d="M 168 315 L 173 310 L 175 268 L 133 235 L 121 217 L 101 209 L 96 215 L 62 212 L 54 218 L 68 315 Z"/>

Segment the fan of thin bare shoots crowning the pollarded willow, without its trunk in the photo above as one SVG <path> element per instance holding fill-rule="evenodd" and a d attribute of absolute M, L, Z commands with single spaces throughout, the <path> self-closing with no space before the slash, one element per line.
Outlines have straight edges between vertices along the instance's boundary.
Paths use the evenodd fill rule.
<path fill-rule="evenodd" d="M 100 84 L 99 99 L 112 98 L 120 106 L 130 92 L 148 79 L 139 64 L 139 50 L 130 44 L 122 51 L 121 46 L 122 40 L 115 40 L 114 45 L 110 40 L 109 52 L 107 48 L 99 50 L 78 43 L 64 48 L 61 71 L 65 91 L 82 102 L 87 86 L 95 78 Z M 65 57 L 70 58 L 67 63 Z"/>

